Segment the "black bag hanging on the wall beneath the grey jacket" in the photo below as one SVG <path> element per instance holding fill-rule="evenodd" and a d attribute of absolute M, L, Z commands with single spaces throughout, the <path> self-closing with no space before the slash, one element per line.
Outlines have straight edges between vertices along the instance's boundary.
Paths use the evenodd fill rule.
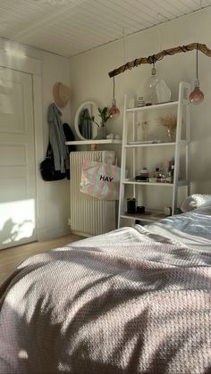
<path fill-rule="evenodd" d="M 55 170 L 55 160 L 50 142 L 47 145 L 46 158 L 39 165 L 39 170 L 43 180 L 60 180 L 66 178 L 66 173 L 60 170 Z"/>

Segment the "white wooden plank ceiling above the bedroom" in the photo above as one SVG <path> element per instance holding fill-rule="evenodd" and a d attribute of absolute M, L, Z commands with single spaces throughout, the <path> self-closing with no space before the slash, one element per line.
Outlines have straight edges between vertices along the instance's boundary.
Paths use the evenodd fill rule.
<path fill-rule="evenodd" d="M 0 0 L 0 37 L 71 57 L 211 0 Z"/>

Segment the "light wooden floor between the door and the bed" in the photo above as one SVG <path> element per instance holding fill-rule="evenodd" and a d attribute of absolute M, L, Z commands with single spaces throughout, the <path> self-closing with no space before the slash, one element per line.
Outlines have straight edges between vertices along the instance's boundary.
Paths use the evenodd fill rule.
<path fill-rule="evenodd" d="M 75 242 L 82 238 L 84 237 L 71 234 L 65 237 L 56 237 L 55 239 L 46 240 L 44 242 L 35 242 L 3 249 L 0 251 L 0 284 L 2 284 L 5 278 L 7 278 L 27 257 L 49 251 L 50 249 Z"/>

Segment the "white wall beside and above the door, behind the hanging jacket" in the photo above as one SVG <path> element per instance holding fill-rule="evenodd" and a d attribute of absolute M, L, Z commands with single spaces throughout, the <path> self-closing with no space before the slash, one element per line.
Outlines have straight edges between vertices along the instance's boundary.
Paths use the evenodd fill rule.
<path fill-rule="evenodd" d="M 13 44 L 10 41 L 0 39 L 0 48 L 4 50 L 5 46 L 16 46 L 20 48 L 27 56 L 38 59 L 41 62 L 41 92 L 42 96 L 42 132 L 38 135 L 36 142 L 37 149 L 37 170 L 39 163 L 46 154 L 46 145 L 48 141 L 48 123 L 46 120 L 47 108 L 54 99 L 52 88 L 56 81 L 62 81 L 63 84 L 69 84 L 69 61 L 68 59 L 40 51 L 35 48 Z M 14 57 L 13 57 L 14 58 Z M 62 110 L 63 122 L 70 123 L 70 103 Z M 67 226 L 70 206 L 69 181 L 44 182 L 38 172 L 38 240 L 49 237 L 59 237 L 67 234 L 70 229 Z"/>

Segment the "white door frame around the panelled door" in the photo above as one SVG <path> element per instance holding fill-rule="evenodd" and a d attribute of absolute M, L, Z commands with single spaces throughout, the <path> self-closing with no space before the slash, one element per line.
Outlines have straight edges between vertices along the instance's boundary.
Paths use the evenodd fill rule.
<path fill-rule="evenodd" d="M 34 144 L 35 144 L 35 169 L 36 169 L 36 228 L 37 240 L 39 240 L 39 212 L 41 211 L 41 178 L 39 175 L 38 164 L 44 154 L 44 143 L 38 142 L 40 134 L 43 134 L 43 106 L 42 106 L 42 79 L 41 79 L 42 61 L 28 56 L 15 57 L 0 50 L 0 68 L 7 68 L 22 73 L 28 73 L 32 77 L 32 103 L 33 103 L 33 121 L 34 121 Z"/>

